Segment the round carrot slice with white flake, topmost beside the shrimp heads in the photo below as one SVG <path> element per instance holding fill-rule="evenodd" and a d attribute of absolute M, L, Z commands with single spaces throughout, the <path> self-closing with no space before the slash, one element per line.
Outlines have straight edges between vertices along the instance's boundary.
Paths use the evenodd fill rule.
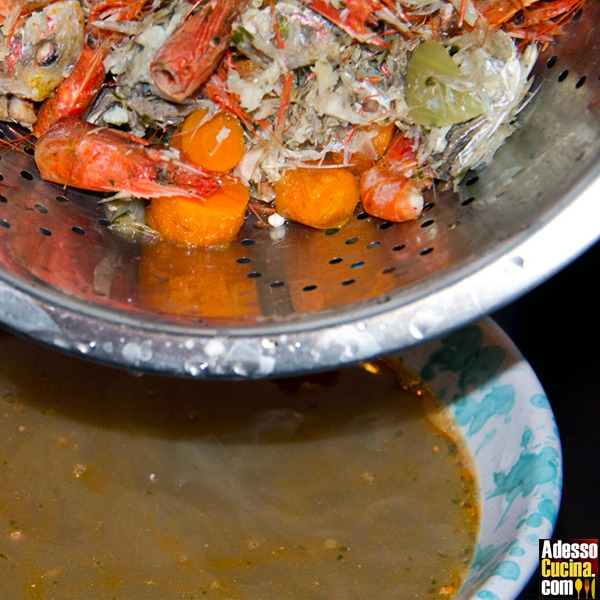
<path fill-rule="evenodd" d="M 174 145 L 194 165 L 226 173 L 244 156 L 244 130 L 238 119 L 225 112 L 205 121 L 207 112 L 205 108 L 191 112 L 174 136 Z"/>

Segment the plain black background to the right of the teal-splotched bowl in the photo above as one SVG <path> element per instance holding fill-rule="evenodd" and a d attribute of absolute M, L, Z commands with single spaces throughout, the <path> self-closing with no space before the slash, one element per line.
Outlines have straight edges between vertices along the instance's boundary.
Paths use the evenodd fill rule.
<path fill-rule="evenodd" d="M 600 225 L 599 225 L 600 226 Z M 557 240 L 560 243 L 560 240 Z M 536 372 L 564 460 L 557 539 L 598 538 L 600 506 L 600 243 L 492 315 Z M 539 598 L 536 572 L 519 600 Z"/>

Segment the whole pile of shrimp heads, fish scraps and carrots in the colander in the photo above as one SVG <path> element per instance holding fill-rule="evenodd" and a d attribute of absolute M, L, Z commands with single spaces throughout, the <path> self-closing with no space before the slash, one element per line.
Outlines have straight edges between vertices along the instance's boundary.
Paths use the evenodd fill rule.
<path fill-rule="evenodd" d="M 252 214 L 311 227 L 343 226 L 359 203 L 412 220 L 436 181 L 492 159 L 540 44 L 583 1 L 4 0 L 0 118 L 32 129 L 44 178 L 144 199 L 178 243 L 230 240 L 229 225 L 215 240 L 172 224 L 178 203 L 218 219 L 211 194 L 238 183 Z M 110 169 L 90 173 L 91 154 Z"/>

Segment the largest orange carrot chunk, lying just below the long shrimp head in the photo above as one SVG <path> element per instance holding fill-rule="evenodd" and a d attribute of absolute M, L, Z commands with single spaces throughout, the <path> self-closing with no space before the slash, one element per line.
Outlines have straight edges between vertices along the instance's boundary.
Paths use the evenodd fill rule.
<path fill-rule="evenodd" d="M 243 183 L 225 181 L 205 200 L 155 198 L 146 210 L 146 221 L 166 240 L 185 246 L 214 246 L 235 239 L 249 198 Z"/>

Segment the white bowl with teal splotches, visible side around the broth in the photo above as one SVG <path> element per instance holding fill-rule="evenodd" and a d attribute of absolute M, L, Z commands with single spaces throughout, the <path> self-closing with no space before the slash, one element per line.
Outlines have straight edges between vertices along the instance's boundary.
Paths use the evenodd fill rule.
<path fill-rule="evenodd" d="M 458 600 L 513 600 L 552 537 L 562 490 L 562 452 L 548 398 L 530 365 L 487 319 L 403 359 L 446 404 L 474 457 L 482 522 Z"/>

